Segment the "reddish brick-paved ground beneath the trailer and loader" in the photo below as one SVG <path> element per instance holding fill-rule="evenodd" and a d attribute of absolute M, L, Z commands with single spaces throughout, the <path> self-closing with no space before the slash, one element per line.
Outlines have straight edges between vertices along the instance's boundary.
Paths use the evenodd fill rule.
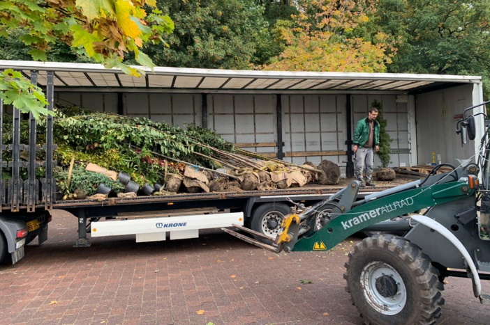
<path fill-rule="evenodd" d="M 76 219 L 56 215 L 48 241 L 0 267 L 0 324 L 362 324 L 342 278 L 357 238 L 333 251 L 274 254 L 221 232 L 73 248 Z M 313 283 L 301 283 L 311 280 Z M 439 324 L 489 324 L 468 279 L 450 278 Z M 490 283 L 484 283 L 490 293 Z"/>

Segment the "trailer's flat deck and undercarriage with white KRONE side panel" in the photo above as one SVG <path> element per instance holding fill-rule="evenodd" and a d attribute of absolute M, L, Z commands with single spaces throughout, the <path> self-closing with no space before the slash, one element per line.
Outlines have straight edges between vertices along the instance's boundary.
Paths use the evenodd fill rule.
<path fill-rule="evenodd" d="M 3 234 L 2 256 L 15 264 L 24 256 L 24 246 L 36 236 L 47 240 L 48 223 L 53 210 L 70 212 L 77 219 L 75 247 L 89 247 L 91 237 L 135 235 L 137 242 L 197 238 L 199 230 L 245 225 L 268 237 L 275 237 L 281 220 L 295 204 L 311 206 L 325 200 L 339 187 L 315 186 L 275 190 L 216 193 L 181 193 L 172 196 L 138 196 L 94 200 L 54 201 L 30 207 L 18 205 L 17 211 L 2 205 L 0 225 Z M 364 190 L 359 199 L 387 187 Z M 45 191 L 45 189 L 42 189 Z M 54 197 L 54 196 L 53 196 Z M 10 228 L 5 225 L 13 223 Z M 10 229 L 10 230 L 9 230 Z M 17 232 L 25 232 L 17 237 Z"/>

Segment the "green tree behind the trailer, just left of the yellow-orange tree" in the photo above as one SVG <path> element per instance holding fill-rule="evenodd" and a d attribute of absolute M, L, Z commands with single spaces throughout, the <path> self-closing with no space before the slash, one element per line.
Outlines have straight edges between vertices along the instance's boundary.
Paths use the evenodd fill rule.
<path fill-rule="evenodd" d="M 149 46 L 158 65 L 247 69 L 269 38 L 264 8 L 255 0 L 158 1 L 175 22 L 167 48 Z"/>

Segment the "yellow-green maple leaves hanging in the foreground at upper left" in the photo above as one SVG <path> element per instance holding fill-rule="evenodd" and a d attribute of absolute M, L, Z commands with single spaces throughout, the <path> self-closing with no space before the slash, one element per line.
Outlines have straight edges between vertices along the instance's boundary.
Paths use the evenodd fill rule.
<path fill-rule="evenodd" d="M 42 6 L 39 3 L 43 3 Z M 21 58 L 14 55 L 15 59 L 25 59 L 24 55 L 29 54 L 35 61 L 46 61 L 46 52 L 52 45 L 56 44 L 59 51 L 64 49 L 64 44 L 71 48 L 73 56 L 85 56 L 86 60 L 102 63 L 107 68 L 117 67 L 127 74 L 139 76 L 142 71 L 124 63 L 126 54 L 134 52 L 138 63 L 153 69 L 154 64 L 142 53 L 142 47 L 146 42 L 163 41 L 163 33 L 171 33 L 174 29 L 168 15 L 162 15 L 159 10 L 147 13 L 151 6 L 156 6 L 156 1 L 4 0 L 0 1 L 0 36 L 20 33 L 18 40 L 30 47 L 29 51 L 21 51 Z M 0 57 L 6 58 L 4 53 L 10 56 L 10 51 L 16 49 L 0 49 Z M 75 59 L 80 61 L 76 57 L 71 60 Z M 45 113 L 43 102 L 35 103 L 43 96 L 29 95 L 29 92 L 38 91 L 35 88 L 21 85 L 20 81 L 10 83 L 5 78 L 0 79 L 0 88 L 6 91 L 2 95 L 6 102 L 15 102 L 19 109 L 32 111 L 35 116 Z"/>

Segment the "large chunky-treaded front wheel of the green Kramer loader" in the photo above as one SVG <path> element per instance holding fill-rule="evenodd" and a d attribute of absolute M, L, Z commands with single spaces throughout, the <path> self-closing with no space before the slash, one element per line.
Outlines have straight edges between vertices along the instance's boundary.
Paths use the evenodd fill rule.
<path fill-rule="evenodd" d="M 433 324 L 443 283 L 429 256 L 410 241 L 375 235 L 355 246 L 346 263 L 346 291 L 366 324 Z"/>

